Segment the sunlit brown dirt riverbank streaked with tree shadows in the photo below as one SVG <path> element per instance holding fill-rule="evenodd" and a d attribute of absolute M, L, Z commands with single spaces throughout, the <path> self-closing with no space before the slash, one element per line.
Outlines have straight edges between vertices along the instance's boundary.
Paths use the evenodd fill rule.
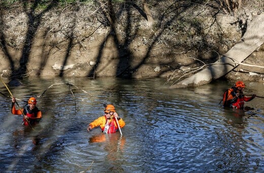
<path fill-rule="evenodd" d="M 166 8 L 168 4 L 162 5 Z M 242 38 L 246 23 L 258 15 L 247 11 L 239 17 L 224 14 L 212 17 L 212 9 L 199 13 L 201 7 L 197 6 L 195 11 L 190 8 L 179 16 L 159 21 L 159 11 L 153 10 L 156 23 L 149 26 L 135 8 L 133 17 L 128 20 L 124 16 L 113 28 L 104 25 L 104 16 L 94 15 L 96 9 L 90 6 L 80 7 L 87 13 L 17 7 L 4 10 L 1 15 L 4 30 L 0 75 L 4 78 L 169 79 L 176 72 L 179 76 L 191 74 L 193 69 L 218 60 Z M 260 67 L 240 65 L 225 77 L 263 81 L 263 52 L 262 45 L 246 60 Z"/>

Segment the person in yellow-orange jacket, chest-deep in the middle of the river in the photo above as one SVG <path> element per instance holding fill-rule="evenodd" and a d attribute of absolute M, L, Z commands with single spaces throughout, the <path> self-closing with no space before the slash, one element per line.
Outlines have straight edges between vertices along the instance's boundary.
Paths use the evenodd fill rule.
<path fill-rule="evenodd" d="M 103 133 L 116 133 L 118 132 L 118 124 L 120 128 L 125 126 L 125 122 L 118 116 L 115 107 L 112 104 L 106 105 L 104 111 L 104 116 L 99 117 L 89 124 L 87 127 L 88 132 L 92 128 L 100 126 Z M 116 118 L 118 122 L 116 121 Z"/>

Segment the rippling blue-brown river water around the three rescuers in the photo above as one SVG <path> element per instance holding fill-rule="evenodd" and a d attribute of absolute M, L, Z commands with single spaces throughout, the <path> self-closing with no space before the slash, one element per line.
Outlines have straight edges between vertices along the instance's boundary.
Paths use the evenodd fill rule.
<path fill-rule="evenodd" d="M 74 86 L 69 86 L 69 84 Z M 34 129 L 14 116 L 7 89 L 0 95 L 3 172 L 263 172 L 264 102 L 246 112 L 219 106 L 234 81 L 168 89 L 163 79 L 31 79 L 10 87 L 22 107 L 31 96 L 43 119 Z M 264 83 L 244 93 L 264 95 Z M 77 86 L 78 88 L 76 88 Z M 80 90 L 82 89 L 82 90 Z M 85 93 L 87 92 L 87 93 Z M 120 133 L 89 133 L 112 103 L 126 125 Z"/>

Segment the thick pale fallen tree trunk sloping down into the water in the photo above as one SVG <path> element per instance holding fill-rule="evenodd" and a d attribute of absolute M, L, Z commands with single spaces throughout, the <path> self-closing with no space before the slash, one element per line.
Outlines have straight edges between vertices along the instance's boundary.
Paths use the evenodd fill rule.
<path fill-rule="evenodd" d="M 187 88 L 208 84 L 232 71 L 264 43 L 264 13 L 255 16 L 248 24 L 243 38 L 220 59 L 200 72 L 191 75 L 171 86 L 171 88 Z"/>

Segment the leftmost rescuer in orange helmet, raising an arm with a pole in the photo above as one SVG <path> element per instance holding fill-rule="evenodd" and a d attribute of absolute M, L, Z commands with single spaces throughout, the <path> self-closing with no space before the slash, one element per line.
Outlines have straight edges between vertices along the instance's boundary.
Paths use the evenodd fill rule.
<path fill-rule="evenodd" d="M 36 107 L 37 104 L 37 100 L 35 97 L 31 97 L 28 99 L 28 105 L 26 105 L 24 108 L 22 108 L 21 110 L 23 111 L 23 113 L 21 112 L 21 110 L 16 110 L 15 107 L 15 102 L 16 102 L 16 98 L 12 97 L 12 108 L 11 111 L 13 114 L 17 114 L 17 115 L 21 115 L 23 114 L 23 124 L 25 126 L 28 126 L 28 122 L 30 123 L 30 125 L 35 125 L 37 123 L 40 122 L 41 118 L 42 118 L 42 113 L 41 111 L 38 109 L 38 107 Z M 28 121 L 26 121 L 28 120 Z"/>

